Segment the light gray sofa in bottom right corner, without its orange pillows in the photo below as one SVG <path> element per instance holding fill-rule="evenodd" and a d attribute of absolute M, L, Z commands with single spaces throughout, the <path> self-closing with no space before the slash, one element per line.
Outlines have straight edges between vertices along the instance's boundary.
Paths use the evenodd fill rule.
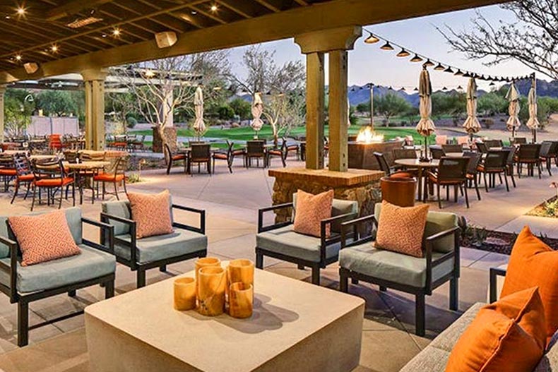
<path fill-rule="evenodd" d="M 506 275 L 506 270 L 492 268 L 490 270 L 490 292 L 491 302 L 497 300 L 497 275 Z M 400 372 L 444 372 L 448 363 L 449 355 L 459 337 L 465 332 L 471 322 L 477 316 L 478 311 L 485 304 L 477 303 L 471 306 L 463 315 L 453 322 L 444 332 L 441 332 L 430 344 L 422 349 L 406 364 Z M 533 372 L 552 372 L 558 370 L 558 337 L 554 337 L 547 347 L 547 352 L 540 359 L 538 366 Z"/>

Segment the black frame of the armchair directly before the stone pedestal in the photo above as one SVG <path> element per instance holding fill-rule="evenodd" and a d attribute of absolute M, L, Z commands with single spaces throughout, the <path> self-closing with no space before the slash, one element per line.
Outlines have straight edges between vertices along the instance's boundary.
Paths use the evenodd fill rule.
<path fill-rule="evenodd" d="M 274 229 L 279 229 L 280 227 L 285 227 L 292 224 L 292 221 L 278 222 L 268 226 L 263 226 L 263 213 L 271 212 L 283 208 L 294 208 L 294 203 L 283 203 L 278 205 L 273 205 L 267 208 L 261 208 L 258 210 L 258 234 L 262 232 L 268 232 Z M 343 215 L 338 215 L 335 217 L 327 218 L 326 220 L 321 220 L 320 222 L 320 232 L 321 232 L 321 244 L 320 244 L 320 261 L 314 262 L 309 260 L 303 260 L 302 258 L 297 258 L 293 256 L 287 256 L 282 253 L 277 253 L 273 251 L 268 251 L 264 248 L 256 246 L 256 268 L 263 269 L 263 256 L 277 258 L 278 260 L 287 261 L 290 263 L 296 263 L 300 270 L 304 268 L 311 268 L 312 270 L 312 284 L 320 284 L 320 269 L 325 269 L 327 265 L 334 263 L 338 260 L 338 256 L 333 256 L 331 258 L 326 258 L 326 248 L 333 244 L 338 244 L 341 241 L 341 234 L 331 233 L 329 238 L 326 238 L 326 227 L 331 226 L 334 222 L 342 222 L 345 219 L 355 217 L 354 213 L 345 213 Z"/>

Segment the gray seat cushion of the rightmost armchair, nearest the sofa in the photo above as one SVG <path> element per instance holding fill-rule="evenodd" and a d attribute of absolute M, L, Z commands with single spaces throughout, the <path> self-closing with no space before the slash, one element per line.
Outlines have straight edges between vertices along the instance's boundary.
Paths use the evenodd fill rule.
<path fill-rule="evenodd" d="M 445 253 L 432 252 L 432 260 Z M 372 243 L 344 248 L 339 253 L 342 268 L 413 287 L 426 285 L 426 259 L 374 248 Z M 432 268 L 432 281 L 453 271 L 453 258 Z"/>

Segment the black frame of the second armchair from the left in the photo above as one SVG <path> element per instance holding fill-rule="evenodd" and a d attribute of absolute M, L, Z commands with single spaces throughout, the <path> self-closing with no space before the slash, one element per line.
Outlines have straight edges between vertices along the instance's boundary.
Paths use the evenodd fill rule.
<path fill-rule="evenodd" d="M 185 207 L 183 205 L 172 205 L 173 209 L 177 210 L 185 210 L 186 212 L 196 213 L 200 217 L 200 227 L 194 227 L 189 224 L 183 224 L 179 222 L 172 222 L 172 227 L 176 227 L 177 229 L 184 229 L 189 230 L 191 232 L 197 232 L 199 234 L 206 234 L 206 211 L 205 210 L 198 210 L 195 208 Z M 201 258 L 207 256 L 207 249 L 203 249 L 201 251 L 196 251 L 194 253 L 187 253 L 181 256 L 175 256 L 170 258 L 164 258 L 162 260 L 156 260 L 148 263 L 138 263 L 137 260 L 137 238 L 136 238 L 136 222 L 133 220 L 129 220 L 124 217 L 119 217 L 115 215 L 109 215 L 108 213 L 101 212 L 101 221 L 109 224 L 110 221 L 121 222 L 127 224 L 130 229 L 130 236 L 131 241 L 125 241 L 119 239 L 117 236 L 114 237 L 112 242 L 112 251 L 114 252 L 114 244 L 120 244 L 122 246 L 126 246 L 130 248 L 130 259 L 126 260 L 126 258 L 122 258 L 120 256 L 114 255 L 117 258 L 117 262 L 121 263 L 122 265 L 128 266 L 132 271 L 137 271 L 136 275 L 136 285 L 138 288 L 146 286 L 146 270 L 159 268 L 161 272 L 167 271 L 167 265 L 171 263 L 182 262 L 185 260 L 189 260 L 190 258 Z M 105 241 L 105 236 L 101 236 L 101 241 Z"/>

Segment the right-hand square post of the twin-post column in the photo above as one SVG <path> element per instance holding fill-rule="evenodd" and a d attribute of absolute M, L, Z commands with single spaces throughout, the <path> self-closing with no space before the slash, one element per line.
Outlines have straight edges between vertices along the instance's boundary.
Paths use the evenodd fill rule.
<path fill-rule="evenodd" d="M 329 52 L 329 170 L 336 172 L 349 168 L 347 59 L 346 50 Z"/>

